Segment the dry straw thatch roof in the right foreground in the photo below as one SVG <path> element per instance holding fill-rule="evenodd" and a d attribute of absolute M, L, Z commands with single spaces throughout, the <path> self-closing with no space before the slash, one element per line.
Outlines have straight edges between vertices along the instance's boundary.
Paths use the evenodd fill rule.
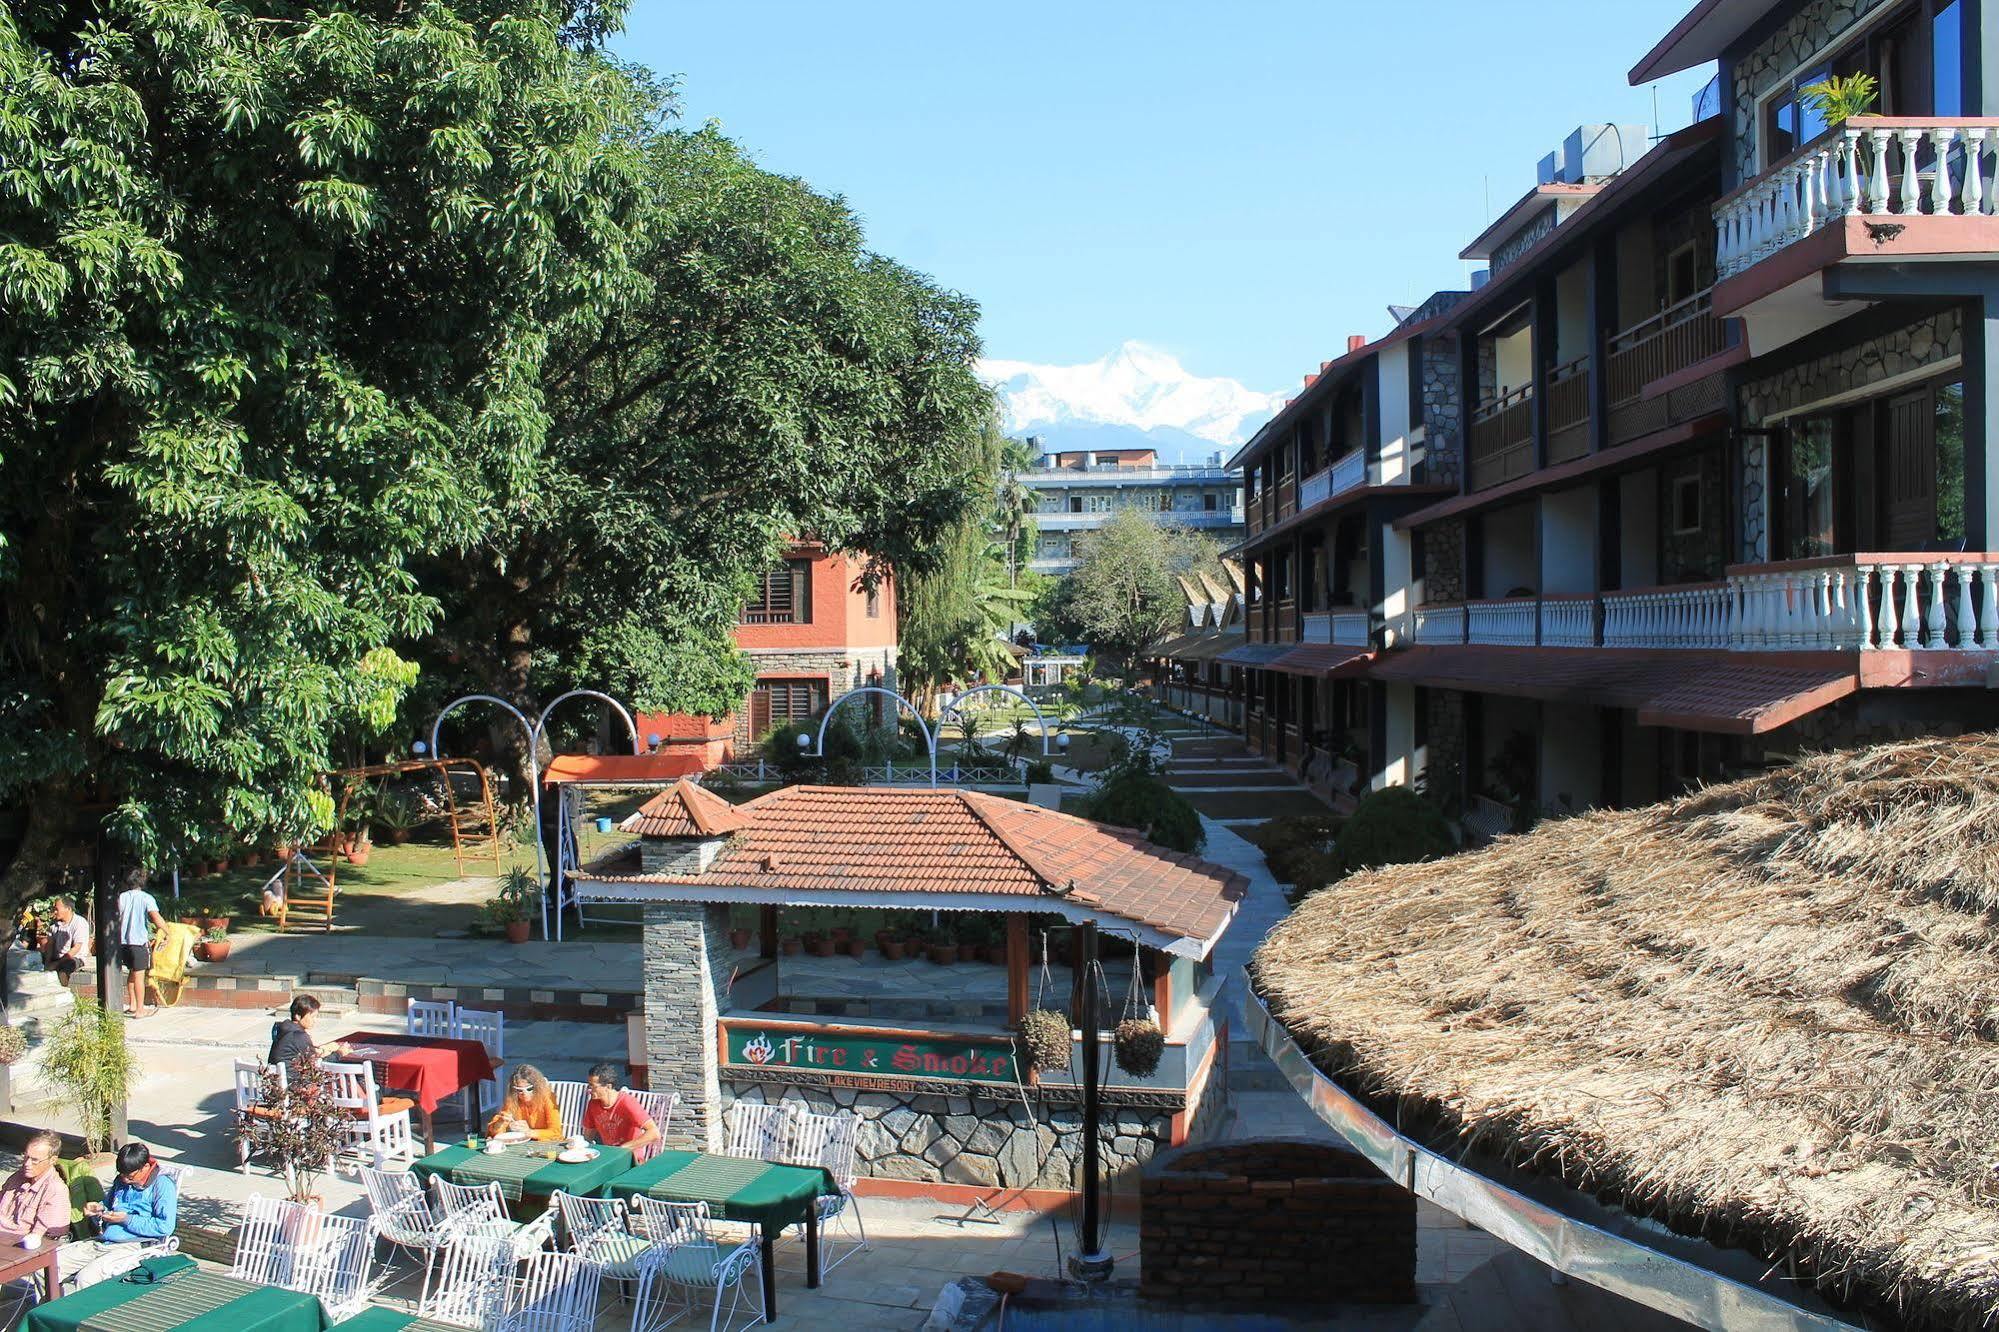
<path fill-rule="evenodd" d="M 1999 738 L 1357 874 L 1251 966 L 1321 1068 L 1439 1148 L 1915 1324 L 1999 1324 Z"/>

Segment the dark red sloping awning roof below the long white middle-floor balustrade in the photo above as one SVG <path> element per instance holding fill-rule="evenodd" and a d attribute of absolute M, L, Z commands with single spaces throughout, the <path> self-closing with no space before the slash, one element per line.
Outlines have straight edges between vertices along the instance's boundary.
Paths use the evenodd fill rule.
<path fill-rule="evenodd" d="M 1637 712 L 1641 726 L 1761 734 L 1859 688 L 1851 654 L 1641 652 L 1619 648 L 1417 646 L 1367 668 L 1473 694 L 1581 702 Z"/>

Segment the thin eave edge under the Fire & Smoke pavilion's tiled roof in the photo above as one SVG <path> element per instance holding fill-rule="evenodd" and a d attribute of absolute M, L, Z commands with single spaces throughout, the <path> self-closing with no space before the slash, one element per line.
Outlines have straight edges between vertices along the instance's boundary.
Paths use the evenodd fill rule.
<path fill-rule="evenodd" d="M 570 884 L 576 890 L 578 902 L 622 906 L 642 906 L 646 902 L 712 902 L 726 906 L 844 906 L 924 912 L 990 912 L 1001 916 L 1051 912 L 1069 924 L 1103 924 L 1105 920 L 1113 920 L 1117 922 L 1117 928 L 1131 930 L 1137 942 L 1147 948 L 1157 948 L 1159 952 L 1175 958 L 1191 958 L 1195 962 L 1205 960 L 1207 954 L 1213 952 L 1215 944 L 1223 934 L 1227 934 L 1229 924 L 1235 920 L 1235 912 L 1241 908 L 1239 898 L 1225 902 L 1221 924 L 1215 926 L 1211 934 L 1205 938 L 1185 938 L 1057 892 L 882 892 L 872 888 L 776 890 L 750 888 L 744 884 L 730 884 L 726 880 L 714 884 L 660 884 L 624 878 L 592 878 L 588 872 L 572 874 Z"/>

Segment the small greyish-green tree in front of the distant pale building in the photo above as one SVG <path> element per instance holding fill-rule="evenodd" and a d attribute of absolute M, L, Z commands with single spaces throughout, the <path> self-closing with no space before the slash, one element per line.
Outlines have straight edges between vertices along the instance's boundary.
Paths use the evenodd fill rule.
<path fill-rule="evenodd" d="M 1083 540 L 1083 558 L 1069 574 L 1069 614 L 1097 656 L 1119 660 L 1129 680 L 1139 658 L 1185 616 L 1175 578 L 1219 568 L 1211 538 L 1121 508 Z"/>

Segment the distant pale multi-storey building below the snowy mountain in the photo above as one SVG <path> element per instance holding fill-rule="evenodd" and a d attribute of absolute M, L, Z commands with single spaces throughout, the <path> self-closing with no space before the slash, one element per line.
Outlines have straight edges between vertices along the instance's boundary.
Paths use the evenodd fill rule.
<path fill-rule="evenodd" d="M 1233 546 L 1243 536 L 1241 478 L 1213 462 L 1163 464 L 1151 448 L 1101 448 L 1041 454 L 1041 466 L 1021 474 L 1033 490 L 1035 536 L 1027 568 L 1067 574 L 1079 556 L 1077 538 L 1109 522 L 1119 508 L 1137 508 L 1177 528 L 1199 528 Z"/>

